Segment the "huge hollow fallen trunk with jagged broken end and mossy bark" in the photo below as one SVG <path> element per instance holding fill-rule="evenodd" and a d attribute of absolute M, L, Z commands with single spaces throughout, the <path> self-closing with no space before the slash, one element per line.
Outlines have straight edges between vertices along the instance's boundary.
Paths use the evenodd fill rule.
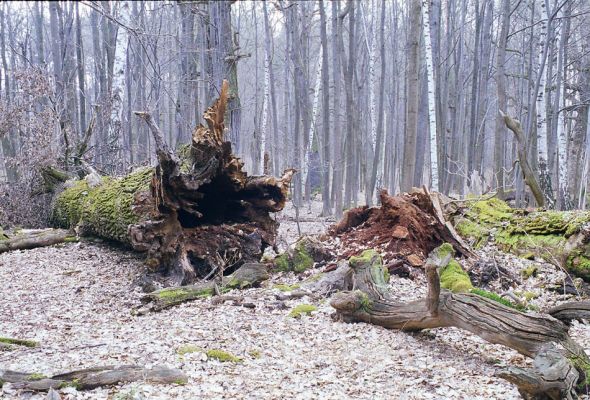
<path fill-rule="evenodd" d="M 55 200 L 55 225 L 146 252 L 150 269 L 170 274 L 175 285 L 258 261 L 275 244 L 278 223 L 270 213 L 284 207 L 295 171 L 281 179 L 243 171 L 223 137 L 227 96 L 224 82 L 204 114 L 207 126 L 199 125 L 178 155 L 151 115 L 136 112 L 155 139 L 157 167 L 96 186 L 75 181 Z"/>

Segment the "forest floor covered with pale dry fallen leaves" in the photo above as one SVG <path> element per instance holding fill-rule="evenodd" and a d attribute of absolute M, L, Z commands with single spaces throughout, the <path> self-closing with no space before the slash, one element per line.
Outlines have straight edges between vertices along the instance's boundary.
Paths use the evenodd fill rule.
<path fill-rule="evenodd" d="M 300 210 L 302 233 L 325 231 L 321 205 Z M 297 237 L 293 209 L 277 216 L 281 240 Z M 514 290 L 539 294 L 531 300 L 543 309 L 566 296 L 541 287 L 563 277 L 546 264 L 517 259 L 493 248 L 481 251 L 516 275 L 537 265 L 537 277 Z M 135 281 L 143 269 L 132 253 L 104 244 L 80 242 L 0 255 L 0 336 L 35 339 L 36 348 L 0 352 L 0 369 L 45 375 L 99 365 L 139 364 L 180 368 L 186 385 L 143 382 L 78 392 L 61 390 L 64 399 L 512 399 L 514 386 L 496 378 L 504 365 L 530 361 L 455 328 L 420 334 L 331 319 L 328 301 L 315 302 L 311 316 L 288 316 L 310 298 L 277 301 L 278 283 L 304 276 L 275 274 L 262 288 L 240 292 L 255 308 L 208 299 L 144 316 L 132 316 L 141 291 Z M 392 276 L 400 300 L 426 292 L 414 280 Z M 571 299 L 571 298 L 570 298 Z M 574 324 L 572 336 L 587 350 L 590 331 Z M 205 351 L 221 349 L 242 358 L 222 363 Z M 191 351 L 188 351 L 191 350 Z M 0 398 L 42 399 L 19 393 L 10 384 Z"/>

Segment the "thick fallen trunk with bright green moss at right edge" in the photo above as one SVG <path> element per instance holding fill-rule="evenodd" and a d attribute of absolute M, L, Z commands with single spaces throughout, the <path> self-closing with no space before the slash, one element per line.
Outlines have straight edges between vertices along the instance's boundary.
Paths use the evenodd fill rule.
<path fill-rule="evenodd" d="M 457 232 L 475 247 L 493 242 L 590 281 L 590 212 L 516 209 L 497 198 L 468 201 L 449 212 Z"/>

